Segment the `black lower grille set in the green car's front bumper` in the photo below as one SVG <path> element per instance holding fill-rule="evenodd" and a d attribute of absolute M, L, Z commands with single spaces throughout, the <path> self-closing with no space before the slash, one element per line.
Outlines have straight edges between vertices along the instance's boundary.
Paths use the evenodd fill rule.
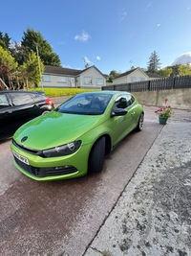
<path fill-rule="evenodd" d="M 49 167 L 49 168 L 37 168 L 31 165 L 27 165 L 14 157 L 15 162 L 27 173 L 36 177 L 45 177 L 53 175 L 69 175 L 77 172 L 74 166 L 63 166 L 63 167 Z"/>

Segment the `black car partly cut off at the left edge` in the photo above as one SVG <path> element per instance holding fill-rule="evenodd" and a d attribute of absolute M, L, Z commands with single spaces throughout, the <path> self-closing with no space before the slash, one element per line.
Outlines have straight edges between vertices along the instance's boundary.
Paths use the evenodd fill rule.
<path fill-rule="evenodd" d="M 53 101 L 41 92 L 0 91 L 0 140 L 53 108 Z"/>

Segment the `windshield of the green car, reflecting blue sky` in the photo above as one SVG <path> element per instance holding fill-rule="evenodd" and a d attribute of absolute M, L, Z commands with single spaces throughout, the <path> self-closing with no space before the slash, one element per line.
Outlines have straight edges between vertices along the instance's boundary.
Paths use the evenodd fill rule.
<path fill-rule="evenodd" d="M 55 111 L 79 115 L 101 115 L 111 98 L 110 94 L 77 94 L 63 105 L 59 105 Z"/>

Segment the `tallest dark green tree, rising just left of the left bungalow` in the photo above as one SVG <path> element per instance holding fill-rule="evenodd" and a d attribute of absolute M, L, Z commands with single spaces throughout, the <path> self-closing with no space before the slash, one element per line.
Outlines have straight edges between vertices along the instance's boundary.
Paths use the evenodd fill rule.
<path fill-rule="evenodd" d="M 27 53 L 28 55 L 31 51 L 38 51 L 39 56 L 45 65 L 61 66 L 58 55 L 53 53 L 51 45 L 39 32 L 35 32 L 28 28 L 27 32 L 24 32 L 22 37 L 21 47 L 23 53 Z"/>

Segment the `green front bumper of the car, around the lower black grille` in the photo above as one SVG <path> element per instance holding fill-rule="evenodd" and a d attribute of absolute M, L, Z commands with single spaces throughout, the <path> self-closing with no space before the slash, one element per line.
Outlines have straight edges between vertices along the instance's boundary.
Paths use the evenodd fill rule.
<path fill-rule="evenodd" d="M 85 145 L 70 155 L 42 158 L 11 144 L 15 167 L 24 175 L 38 181 L 59 180 L 86 175 L 90 149 L 91 145 Z M 21 157 L 18 158 L 16 155 Z M 23 161 L 23 159 L 27 160 Z"/>

